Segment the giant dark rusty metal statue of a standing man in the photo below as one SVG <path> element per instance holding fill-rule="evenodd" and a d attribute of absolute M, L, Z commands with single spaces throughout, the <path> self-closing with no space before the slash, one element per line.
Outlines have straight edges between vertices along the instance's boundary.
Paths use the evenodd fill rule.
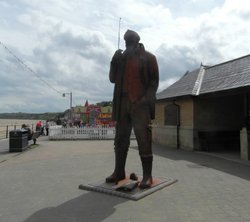
<path fill-rule="evenodd" d="M 143 179 L 140 188 L 152 185 L 152 132 L 155 116 L 159 71 L 156 57 L 139 43 L 140 36 L 127 30 L 124 34 L 126 50 L 118 49 L 111 61 L 109 79 L 115 84 L 113 120 L 116 121 L 115 169 L 107 183 L 126 178 L 125 164 L 132 128 L 136 136 L 142 162 Z"/>

